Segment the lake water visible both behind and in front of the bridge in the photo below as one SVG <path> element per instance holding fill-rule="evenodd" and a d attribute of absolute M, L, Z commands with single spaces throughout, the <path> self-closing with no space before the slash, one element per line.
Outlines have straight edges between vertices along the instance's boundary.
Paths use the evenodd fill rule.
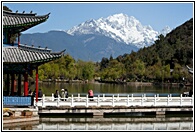
<path fill-rule="evenodd" d="M 30 87 L 34 90 L 35 86 Z M 189 91 L 192 87 L 172 87 L 172 86 L 130 86 L 122 84 L 103 84 L 103 83 L 40 83 L 39 88 L 46 96 L 51 96 L 55 90 L 68 89 L 69 96 L 78 93 L 86 95 L 89 89 L 94 91 L 94 95 L 156 95 L 180 96 L 184 91 Z M 40 116 L 39 121 L 25 123 L 25 125 L 16 125 L 12 127 L 4 127 L 4 130 L 50 130 L 50 131 L 138 131 L 138 130 L 183 130 L 192 131 L 193 128 L 192 114 L 170 114 L 169 116 L 157 117 L 156 115 L 146 116 L 143 114 L 130 115 L 116 114 L 115 116 L 93 117 L 93 116 L 66 116 L 65 114 L 58 116 Z"/>

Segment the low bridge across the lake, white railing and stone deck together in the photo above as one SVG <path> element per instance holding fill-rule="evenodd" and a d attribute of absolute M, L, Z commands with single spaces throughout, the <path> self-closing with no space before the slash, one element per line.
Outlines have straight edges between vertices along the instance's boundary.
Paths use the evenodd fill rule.
<path fill-rule="evenodd" d="M 193 97 L 42 97 L 35 103 L 39 113 L 104 113 L 193 111 Z"/>

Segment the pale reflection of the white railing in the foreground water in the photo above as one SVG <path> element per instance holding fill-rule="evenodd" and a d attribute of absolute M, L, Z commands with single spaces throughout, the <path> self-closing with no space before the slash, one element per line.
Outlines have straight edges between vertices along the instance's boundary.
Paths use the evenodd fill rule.
<path fill-rule="evenodd" d="M 42 123 L 38 130 L 192 130 L 190 122 L 178 123 L 71 123 L 48 125 Z"/>

